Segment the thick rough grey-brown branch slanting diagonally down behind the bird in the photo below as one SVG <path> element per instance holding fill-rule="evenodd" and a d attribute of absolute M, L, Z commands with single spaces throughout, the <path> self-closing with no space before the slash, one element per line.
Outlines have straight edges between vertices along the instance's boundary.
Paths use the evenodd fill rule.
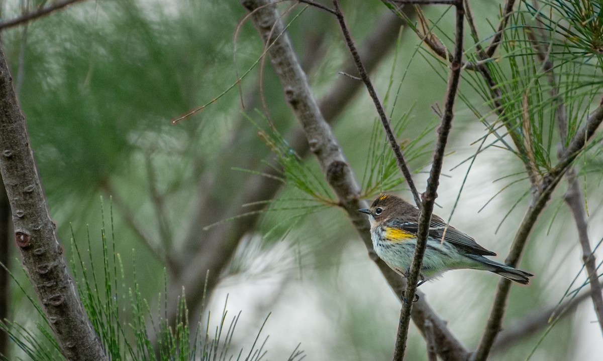
<path fill-rule="evenodd" d="M 253 22 L 257 31 L 262 36 L 265 43 L 273 42 L 275 39 L 269 39 L 268 34 L 271 28 L 279 19 L 277 7 L 262 7 L 270 4 L 269 0 L 243 0 L 242 4 L 249 11 L 253 11 Z M 283 29 L 282 23 L 276 23 L 275 33 L 280 33 Z M 360 214 L 357 209 L 366 206 L 366 202 L 359 200 L 360 188 L 355 175 L 347 164 L 346 157 L 341 150 L 332 129 L 324 120 L 320 113 L 317 103 L 312 96 L 308 80 L 301 70 L 295 52 L 292 49 L 288 35 L 276 39 L 271 46 L 269 55 L 272 66 L 274 67 L 281 81 L 285 97 L 295 117 L 299 120 L 306 131 L 306 137 L 311 144 L 311 150 L 320 163 L 321 169 L 326 174 L 327 181 L 337 194 L 339 204 L 346 211 L 369 252 L 370 258 L 376 262 L 380 271 L 390 286 L 401 295 L 403 282 L 397 274 L 389 268 L 385 262 L 381 261 L 372 249 L 370 240 L 370 226 L 366 217 Z M 438 354 L 445 360 L 466 360 L 467 351 L 456 340 L 446 327 L 446 323 L 428 307 L 424 299 L 421 299 L 413 307 L 412 318 L 417 322 L 417 326 L 424 332 L 425 320 L 429 319 L 434 324 L 434 335 L 437 342 Z"/>

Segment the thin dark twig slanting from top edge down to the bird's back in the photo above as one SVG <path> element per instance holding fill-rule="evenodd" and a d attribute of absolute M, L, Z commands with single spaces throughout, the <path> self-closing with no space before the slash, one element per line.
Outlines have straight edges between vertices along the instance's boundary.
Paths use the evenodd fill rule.
<path fill-rule="evenodd" d="M 343 16 L 343 13 L 341 12 L 338 0 L 333 0 L 333 7 L 335 8 L 339 27 L 341 28 L 344 38 L 346 39 L 346 45 L 348 49 L 350 49 L 350 54 L 352 54 L 352 58 L 354 60 L 354 63 L 356 64 L 356 67 L 358 67 L 358 73 L 360 75 L 360 78 L 362 79 L 362 82 L 364 82 L 364 85 L 367 87 L 367 91 L 371 99 L 373 99 L 373 103 L 375 105 L 375 108 L 377 109 L 377 114 L 379 114 L 379 119 L 381 120 L 383 128 L 385 129 L 387 139 L 390 141 L 391 149 L 394 151 L 394 155 L 396 156 L 396 163 L 398 164 L 398 167 L 400 168 L 403 176 L 406 179 L 406 183 L 408 184 L 408 188 L 411 190 L 412 197 L 414 198 L 417 207 L 420 208 L 421 199 L 418 196 L 417 187 L 415 187 L 414 182 L 412 181 L 411 171 L 408 168 L 408 165 L 406 164 L 406 160 L 404 159 L 404 155 L 402 154 L 402 149 L 400 149 L 400 144 L 398 144 L 398 141 L 396 140 L 396 135 L 394 135 L 394 132 L 391 130 L 390 120 L 385 115 L 385 110 L 383 108 L 383 105 L 381 104 L 381 100 L 379 100 L 379 96 L 377 96 L 377 92 L 374 90 L 373 83 L 368 77 L 367 71 L 364 69 L 364 65 L 362 64 L 360 55 L 358 55 L 358 50 L 356 49 L 356 45 L 352 40 L 352 35 L 350 35 L 350 31 L 347 28 L 346 19 Z"/>

